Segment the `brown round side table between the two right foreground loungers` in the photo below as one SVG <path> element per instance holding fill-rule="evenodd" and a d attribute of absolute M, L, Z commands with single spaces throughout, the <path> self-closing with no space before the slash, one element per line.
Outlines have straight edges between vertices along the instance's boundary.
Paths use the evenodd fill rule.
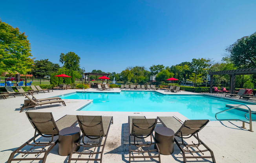
<path fill-rule="evenodd" d="M 160 153 L 170 155 L 174 151 L 174 131 L 167 127 L 155 128 L 155 141 Z"/>

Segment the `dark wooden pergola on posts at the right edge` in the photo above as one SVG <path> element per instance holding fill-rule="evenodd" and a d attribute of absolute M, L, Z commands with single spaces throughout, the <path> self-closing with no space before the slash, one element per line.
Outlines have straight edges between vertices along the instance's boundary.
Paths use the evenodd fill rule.
<path fill-rule="evenodd" d="M 236 75 L 249 75 L 249 74 L 256 74 L 256 68 L 249 68 L 249 69 L 237 69 L 237 70 L 227 70 L 227 71 L 214 71 L 209 72 L 210 75 L 210 93 L 212 93 L 212 81 L 213 75 L 224 75 L 228 74 L 230 76 L 230 93 L 234 94 L 235 87 L 236 87 Z"/>

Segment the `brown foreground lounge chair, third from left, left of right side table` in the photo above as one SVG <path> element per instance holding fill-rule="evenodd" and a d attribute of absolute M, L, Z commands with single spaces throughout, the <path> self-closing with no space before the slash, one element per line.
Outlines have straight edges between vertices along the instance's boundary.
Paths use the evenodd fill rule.
<path fill-rule="evenodd" d="M 129 124 L 129 163 L 131 162 L 131 158 L 158 158 L 159 163 L 161 163 L 160 159 L 160 151 L 157 143 L 155 143 L 155 137 L 153 135 L 153 131 L 155 129 L 155 125 L 157 123 L 157 119 L 146 119 L 145 116 L 129 116 L 128 124 Z M 133 136 L 133 143 L 131 143 L 131 136 Z M 136 143 L 135 138 L 144 139 L 150 136 L 150 143 L 142 144 Z M 152 138 L 154 143 L 152 142 Z M 139 147 L 148 147 L 148 150 L 132 150 L 131 145 L 135 145 L 138 149 Z M 155 145 L 156 149 L 150 150 L 150 146 Z M 150 152 L 158 152 L 158 155 L 152 156 Z M 141 156 L 131 156 L 132 152 L 138 152 L 138 154 L 142 153 Z M 143 153 L 149 153 L 149 156 L 144 156 Z"/>

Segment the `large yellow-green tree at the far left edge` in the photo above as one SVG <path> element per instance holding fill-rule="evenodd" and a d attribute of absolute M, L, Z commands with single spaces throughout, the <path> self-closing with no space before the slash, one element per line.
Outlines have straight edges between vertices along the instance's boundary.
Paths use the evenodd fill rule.
<path fill-rule="evenodd" d="M 0 20 L 0 70 L 26 74 L 31 71 L 30 43 L 25 33 Z"/>

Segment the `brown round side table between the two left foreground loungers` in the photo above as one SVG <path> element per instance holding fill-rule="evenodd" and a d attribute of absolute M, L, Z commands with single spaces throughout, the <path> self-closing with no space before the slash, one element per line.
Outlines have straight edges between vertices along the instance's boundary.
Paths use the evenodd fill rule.
<path fill-rule="evenodd" d="M 80 127 L 67 127 L 59 132 L 59 155 L 68 156 L 80 138 Z M 79 147 L 75 151 L 79 150 Z"/>

